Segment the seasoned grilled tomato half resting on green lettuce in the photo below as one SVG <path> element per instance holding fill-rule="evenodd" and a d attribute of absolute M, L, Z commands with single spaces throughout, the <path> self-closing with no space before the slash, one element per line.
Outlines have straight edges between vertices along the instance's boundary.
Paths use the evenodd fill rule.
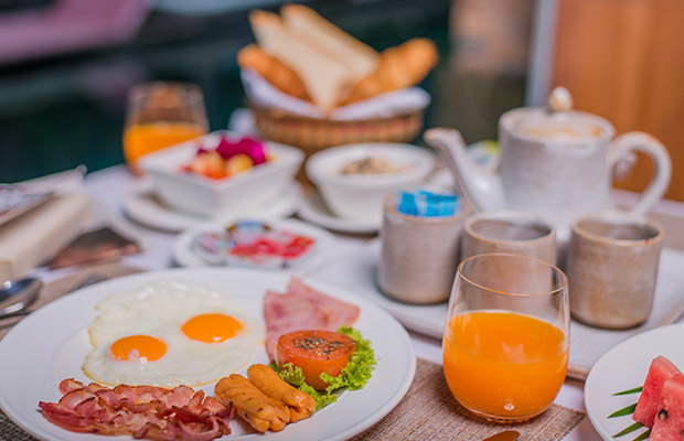
<path fill-rule="evenodd" d="M 348 335 L 332 331 L 295 331 L 284 334 L 276 345 L 276 364 L 282 368 L 288 363 L 301 368 L 307 384 L 323 390 L 328 383 L 321 379 L 327 373 L 336 377 L 356 345 Z"/>

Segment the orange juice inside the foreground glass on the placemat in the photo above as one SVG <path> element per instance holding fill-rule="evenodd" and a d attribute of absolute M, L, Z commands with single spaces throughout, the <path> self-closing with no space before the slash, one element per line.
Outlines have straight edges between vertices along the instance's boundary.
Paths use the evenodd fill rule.
<path fill-rule="evenodd" d="M 459 402 L 484 417 L 520 420 L 546 410 L 568 363 L 563 331 L 505 311 L 473 311 L 445 331 L 443 368 Z"/>

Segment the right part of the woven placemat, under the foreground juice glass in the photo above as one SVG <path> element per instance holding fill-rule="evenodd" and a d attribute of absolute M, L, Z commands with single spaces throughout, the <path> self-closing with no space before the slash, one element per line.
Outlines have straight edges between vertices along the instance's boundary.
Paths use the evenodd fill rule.
<path fill-rule="evenodd" d="M 521 441 L 553 441 L 565 438 L 584 417 L 584 412 L 552 405 L 526 422 L 485 421 L 456 401 L 440 365 L 418 359 L 416 377 L 402 402 L 352 440 L 482 440 L 511 429 L 521 433 Z"/>

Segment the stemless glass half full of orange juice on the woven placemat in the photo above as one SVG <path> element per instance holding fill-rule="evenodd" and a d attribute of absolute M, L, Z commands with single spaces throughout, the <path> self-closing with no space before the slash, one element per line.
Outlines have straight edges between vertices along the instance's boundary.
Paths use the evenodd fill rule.
<path fill-rule="evenodd" d="M 463 260 L 449 299 L 443 370 L 453 397 L 500 422 L 546 410 L 565 380 L 569 349 L 567 277 L 532 257 Z"/>

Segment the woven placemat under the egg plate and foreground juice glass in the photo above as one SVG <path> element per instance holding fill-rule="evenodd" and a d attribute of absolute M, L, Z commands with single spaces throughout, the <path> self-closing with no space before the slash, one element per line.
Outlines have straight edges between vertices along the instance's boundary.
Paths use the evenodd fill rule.
<path fill-rule="evenodd" d="M 32 309 L 71 292 L 82 280 L 93 273 L 107 279 L 138 272 L 138 269 L 119 263 L 90 267 L 47 283 Z M 0 324 L 0 338 L 11 325 Z M 10 320 L 6 320 L 10 322 Z M 441 366 L 418 359 L 416 377 L 399 405 L 378 423 L 353 438 L 361 440 L 481 440 L 505 429 L 517 430 L 523 441 L 552 441 L 563 439 L 581 421 L 585 413 L 553 405 L 539 417 L 517 424 L 498 424 L 474 418 L 451 396 Z M 105 440 L 105 437 L 103 437 Z M 36 441 L 14 424 L 0 410 L 0 441 Z"/>

